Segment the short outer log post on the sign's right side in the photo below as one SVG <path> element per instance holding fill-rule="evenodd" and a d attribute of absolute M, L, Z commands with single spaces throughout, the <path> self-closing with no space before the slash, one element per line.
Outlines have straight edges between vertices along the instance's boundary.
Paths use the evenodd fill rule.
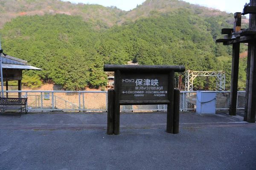
<path fill-rule="evenodd" d="M 178 89 L 174 90 L 174 119 L 173 119 L 173 133 L 179 133 L 179 123 L 180 123 L 180 91 Z"/>

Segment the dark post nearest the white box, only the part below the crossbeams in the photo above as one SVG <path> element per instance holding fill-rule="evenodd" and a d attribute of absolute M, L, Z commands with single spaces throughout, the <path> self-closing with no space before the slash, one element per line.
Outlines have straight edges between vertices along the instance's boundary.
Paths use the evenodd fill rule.
<path fill-rule="evenodd" d="M 236 115 L 240 44 L 233 44 L 229 115 Z"/>

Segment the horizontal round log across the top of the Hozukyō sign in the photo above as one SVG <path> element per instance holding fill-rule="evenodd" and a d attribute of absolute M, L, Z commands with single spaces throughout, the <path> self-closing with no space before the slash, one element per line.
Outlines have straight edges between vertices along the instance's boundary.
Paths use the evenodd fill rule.
<path fill-rule="evenodd" d="M 104 71 L 140 71 L 140 72 L 184 72 L 183 65 L 104 65 Z"/>

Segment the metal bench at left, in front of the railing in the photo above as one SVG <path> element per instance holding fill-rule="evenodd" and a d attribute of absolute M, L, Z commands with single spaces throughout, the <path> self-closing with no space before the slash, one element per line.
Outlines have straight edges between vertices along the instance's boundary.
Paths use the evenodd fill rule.
<path fill-rule="evenodd" d="M 28 98 L 0 97 L 0 109 L 20 109 L 21 113 L 22 110 L 26 111 L 27 100 Z"/>

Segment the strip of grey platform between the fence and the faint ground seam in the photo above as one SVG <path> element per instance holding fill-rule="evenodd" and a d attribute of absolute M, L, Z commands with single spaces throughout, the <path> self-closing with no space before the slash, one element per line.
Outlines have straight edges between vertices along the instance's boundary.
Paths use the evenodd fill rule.
<path fill-rule="evenodd" d="M 166 128 L 165 112 L 121 113 L 120 129 Z M 180 127 L 239 127 L 251 126 L 243 121 L 242 113 L 229 116 L 227 112 L 199 115 L 180 113 Z M 106 129 L 107 113 L 1 113 L 0 129 Z"/>

